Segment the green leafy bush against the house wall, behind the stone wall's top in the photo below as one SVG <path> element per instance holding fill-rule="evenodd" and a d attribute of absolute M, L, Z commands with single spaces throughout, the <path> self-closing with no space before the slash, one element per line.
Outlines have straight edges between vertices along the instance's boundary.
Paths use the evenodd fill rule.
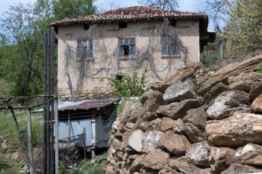
<path fill-rule="evenodd" d="M 134 70 L 132 76 L 123 74 L 122 79 L 108 78 L 109 85 L 117 90 L 119 97 L 142 96 L 145 92 L 145 72 L 142 76 L 138 76 L 138 72 Z"/>

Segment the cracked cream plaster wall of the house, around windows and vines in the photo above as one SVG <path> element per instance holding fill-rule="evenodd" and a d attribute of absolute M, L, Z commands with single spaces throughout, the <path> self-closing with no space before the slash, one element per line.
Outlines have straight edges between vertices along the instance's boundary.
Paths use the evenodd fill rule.
<path fill-rule="evenodd" d="M 101 80 L 106 77 L 114 77 L 115 74 L 130 73 L 132 74 L 132 63 L 127 59 L 120 59 L 117 61 L 114 56 L 114 51 L 117 48 L 118 38 L 134 37 L 136 41 L 137 50 L 145 50 L 148 46 L 150 28 L 155 28 L 162 25 L 163 21 L 134 21 L 128 22 L 128 27 L 120 29 L 117 22 L 98 24 L 97 39 L 94 40 L 94 60 L 88 60 L 85 63 L 85 71 L 87 74 L 93 74 L 92 77 L 86 78 L 83 85 L 83 93 L 90 92 L 92 89 L 108 87 L 108 81 Z M 178 19 L 177 32 L 180 34 L 180 39 L 183 44 L 188 48 L 189 61 L 198 61 L 198 45 L 199 45 L 199 21 L 197 19 Z M 92 34 L 91 34 L 92 35 Z M 85 39 L 90 35 L 88 31 L 83 30 L 83 24 L 77 25 L 61 25 L 59 26 L 59 41 L 58 41 L 58 89 L 61 94 L 69 94 L 68 76 L 66 71 L 70 74 L 72 86 L 77 89 L 77 79 L 79 71 L 77 69 L 77 61 L 72 56 L 68 59 L 65 58 L 66 45 L 70 45 L 72 51 L 77 46 L 77 39 Z M 106 52 L 101 52 L 101 45 L 104 45 Z M 159 37 L 160 43 L 160 37 Z M 160 44 L 159 44 L 160 45 Z M 169 57 L 161 56 L 161 52 L 154 54 L 154 65 L 158 71 L 161 71 L 170 62 Z M 133 62 L 134 63 L 134 62 Z M 133 64 L 135 65 L 135 63 Z M 170 69 L 157 74 L 161 78 L 171 76 L 177 71 L 177 67 L 181 67 L 183 62 L 179 59 L 172 61 Z M 158 78 L 150 71 L 148 62 L 143 63 L 143 68 L 139 69 L 139 73 L 143 69 L 148 69 L 146 74 L 148 83 L 159 81 Z"/>

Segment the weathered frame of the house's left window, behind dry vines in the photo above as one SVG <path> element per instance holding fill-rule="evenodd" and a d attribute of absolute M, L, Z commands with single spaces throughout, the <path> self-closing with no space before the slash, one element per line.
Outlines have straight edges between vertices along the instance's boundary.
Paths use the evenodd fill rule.
<path fill-rule="evenodd" d="M 86 41 L 86 45 L 79 45 L 79 42 L 83 43 Z M 83 52 L 79 51 L 80 48 L 83 48 Z M 89 47 L 89 49 L 88 49 Z M 87 38 L 79 38 L 77 39 L 77 51 L 76 51 L 77 59 L 85 59 L 85 60 L 93 60 L 94 59 L 94 39 L 87 39 Z M 85 54 L 83 57 L 80 57 L 79 54 Z"/>

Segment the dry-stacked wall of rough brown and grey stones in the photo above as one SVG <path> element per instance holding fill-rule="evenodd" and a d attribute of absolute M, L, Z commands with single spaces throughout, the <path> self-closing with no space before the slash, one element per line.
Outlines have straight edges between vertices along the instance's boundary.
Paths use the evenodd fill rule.
<path fill-rule="evenodd" d="M 209 72 L 201 63 L 127 102 L 107 173 L 262 172 L 262 55 Z"/>

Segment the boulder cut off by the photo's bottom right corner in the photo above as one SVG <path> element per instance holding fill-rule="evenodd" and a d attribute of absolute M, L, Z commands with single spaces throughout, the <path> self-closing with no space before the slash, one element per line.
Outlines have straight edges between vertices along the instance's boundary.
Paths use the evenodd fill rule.
<path fill-rule="evenodd" d="M 239 173 L 261 173 L 262 169 L 256 166 L 245 164 L 230 164 L 228 169 L 222 171 L 221 174 L 239 174 Z"/>

